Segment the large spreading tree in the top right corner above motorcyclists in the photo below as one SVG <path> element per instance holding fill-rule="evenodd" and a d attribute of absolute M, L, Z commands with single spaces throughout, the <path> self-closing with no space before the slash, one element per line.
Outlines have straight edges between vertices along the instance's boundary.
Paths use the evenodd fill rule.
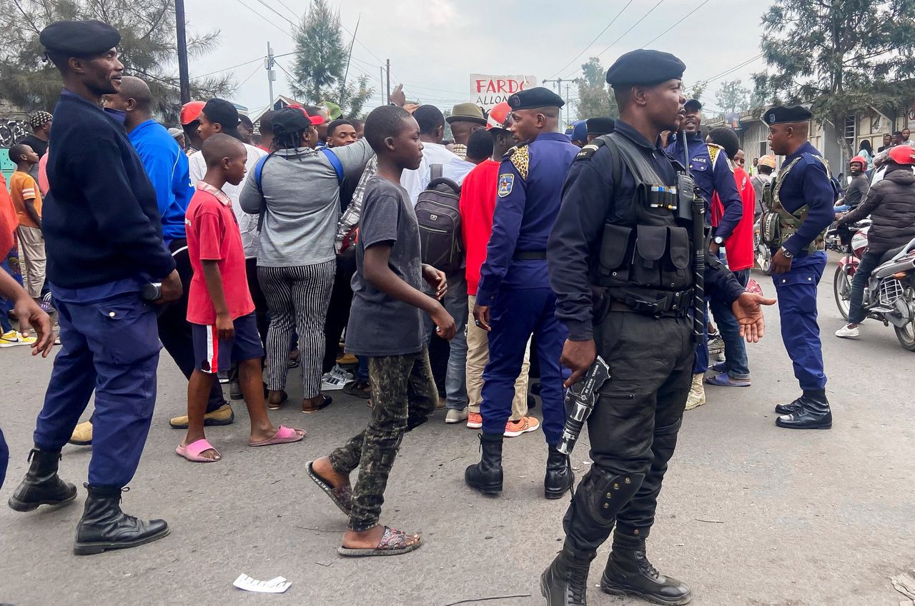
<path fill-rule="evenodd" d="M 760 43 L 770 73 L 755 80 L 768 94 L 811 102 L 832 122 L 848 154 L 845 118 L 865 107 L 896 115 L 908 107 L 915 76 L 915 0 L 775 0 L 762 17 Z"/>

